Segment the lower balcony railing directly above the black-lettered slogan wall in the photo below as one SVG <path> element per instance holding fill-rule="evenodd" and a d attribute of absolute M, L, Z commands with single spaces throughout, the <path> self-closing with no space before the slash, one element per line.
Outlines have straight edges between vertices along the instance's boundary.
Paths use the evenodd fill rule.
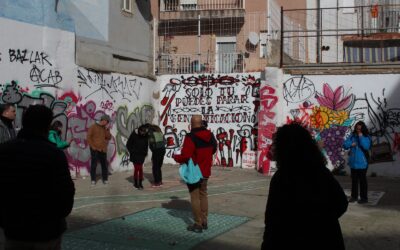
<path fill-rule="evenodd" d="M 161 54 L 158 58 L 158 74 L 228 74 L 241 72 L 244 72 L 244 55 L 238 52 L 214 53 L 201 56 L 194 54 Z"/>

